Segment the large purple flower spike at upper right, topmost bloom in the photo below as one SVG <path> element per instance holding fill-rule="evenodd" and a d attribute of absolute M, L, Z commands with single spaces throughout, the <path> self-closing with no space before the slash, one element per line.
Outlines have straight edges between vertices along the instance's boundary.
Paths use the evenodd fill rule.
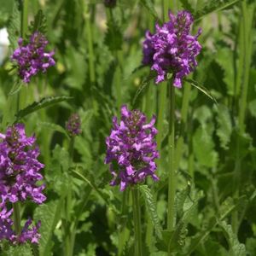
<path fill-rule="evenodd" d="M 167 73 L 173 74 L 173 85 L 182 86 L 182 79 L 193 72 L 197 66 L 195 56 L 199 55 L 201 45 L 195 36 L 189 34 L 194 20 L 188 11 L 179 11 L 177 16 L 169 12 L 170 20 L 163 26 L 156 25 L 154 34 L 146 32 L 143 42 L 143 64 L 151 66 L 157 73 L 155 83 L 166 80 Z"/>

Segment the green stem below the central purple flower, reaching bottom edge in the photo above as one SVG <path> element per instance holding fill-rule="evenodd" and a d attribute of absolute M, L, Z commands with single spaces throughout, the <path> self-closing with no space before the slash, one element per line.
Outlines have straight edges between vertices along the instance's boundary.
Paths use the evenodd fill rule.
<path fill-rule="evenodd" d="M 139 190 L 137 186 L 134 186 L 131 189 L 131 194 L 132 194 L 132 207 L 133 207 L 133 219 L 134 219 L 135 256 L 142 256 L 143 244 L 142 244 L 141 208 L 139 203 Z"/>

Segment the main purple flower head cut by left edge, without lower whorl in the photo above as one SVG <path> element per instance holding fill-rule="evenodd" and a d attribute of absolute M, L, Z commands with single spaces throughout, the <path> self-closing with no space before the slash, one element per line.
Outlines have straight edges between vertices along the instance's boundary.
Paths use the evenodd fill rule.
<path fill-rule="evenodd" d="M 46 197 L 38 161 L 39 148 L 35 136 L 26 137 L 23 124 L 11 125 L 6 134 L 0 133 L 0 196 L 2 201 L 32 201 L 41 204 Z"/>

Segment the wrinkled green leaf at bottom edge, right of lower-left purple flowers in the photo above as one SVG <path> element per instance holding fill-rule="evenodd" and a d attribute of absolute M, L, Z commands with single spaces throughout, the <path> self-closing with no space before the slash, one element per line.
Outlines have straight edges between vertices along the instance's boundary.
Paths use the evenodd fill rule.
<path fill-rule="evenodd" d="M 36 209 L 34 218 L 41 221 L 39 241 L 39 255 L 49 256 L 52 255 L 51 248 L 54 245 L 52 235 L 55 230 L 56 224 L 61 218 L 62 200 L 50 201 Z"/>

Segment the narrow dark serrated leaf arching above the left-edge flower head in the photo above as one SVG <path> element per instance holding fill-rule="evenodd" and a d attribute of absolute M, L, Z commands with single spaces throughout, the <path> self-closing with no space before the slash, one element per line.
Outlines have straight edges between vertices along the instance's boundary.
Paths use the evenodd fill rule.
<path fill-rule="evenodd" d="M 24 118 L 26 115 L 38 111 L 42 108 L 47 108 L 55 105 L 56 103 L 68 101 L 73 99 L 73 97 L 69 96 L 49 96 L 43 98 L 40 102 L 33 102 L 31 105 L 26 108 L 21 109 L 18 113 L 16 113 L 16 120 Z"/>

